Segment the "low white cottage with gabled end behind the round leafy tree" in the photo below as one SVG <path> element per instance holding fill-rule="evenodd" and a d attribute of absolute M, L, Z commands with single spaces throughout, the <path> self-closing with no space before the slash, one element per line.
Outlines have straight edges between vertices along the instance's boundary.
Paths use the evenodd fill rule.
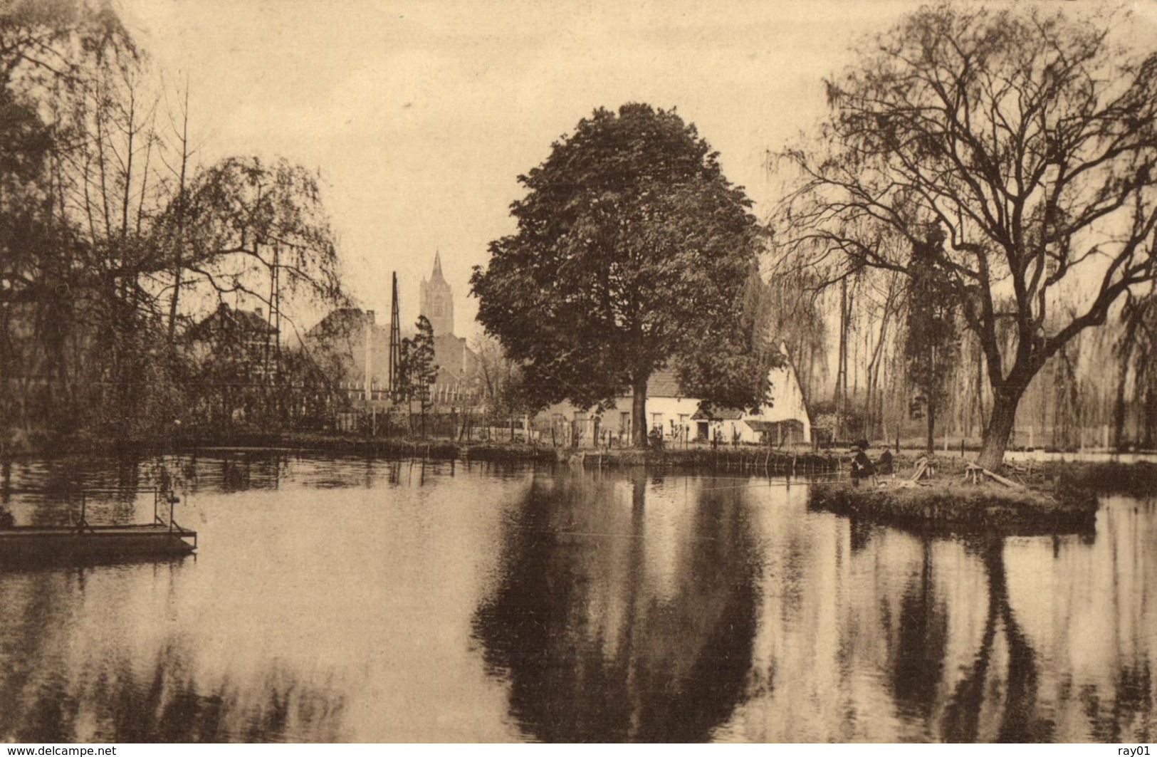
<path fill-rule="evenodd" d="M 790 361 L 769 374 L 773 402 L 758 413 L 732 409 L 702 410 L 701 400 L 679 389 L 673 370 L 657 370 L 647 382 L 648 428 L 662 428 L 668 442 L 709 441 L 718 435 L 725 442 L 797 444 L 811 442 L 811 419 L 803 390 Z M 595 443 L 606 434 L 614 440 L 631 439 L 631 395 L 603 413 L 584 412 L 569 403 L 559 403 L 539 413 L 535 428 L 543 439 Z"/>

